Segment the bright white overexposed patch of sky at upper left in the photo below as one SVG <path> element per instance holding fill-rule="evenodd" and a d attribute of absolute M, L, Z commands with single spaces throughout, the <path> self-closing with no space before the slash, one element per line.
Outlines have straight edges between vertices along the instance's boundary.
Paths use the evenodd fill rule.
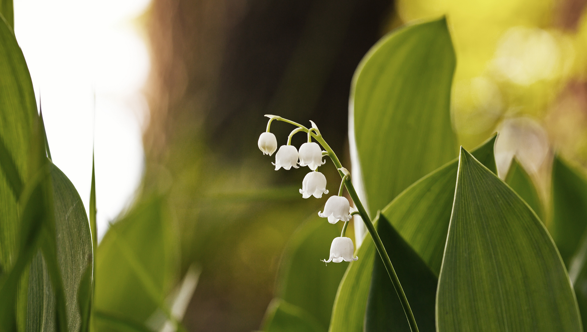
<path fill-rule="evenodd" d="M 149 0 L 14 0 L 15 34 L 31 72 L 53 157 L 88 211 L 95 143 L 98 238 L 127 206 L 144 168 L 141 88 L 149 52 L 137 16 Z M 94 95 L 96 101 L 94 102 Z"/>

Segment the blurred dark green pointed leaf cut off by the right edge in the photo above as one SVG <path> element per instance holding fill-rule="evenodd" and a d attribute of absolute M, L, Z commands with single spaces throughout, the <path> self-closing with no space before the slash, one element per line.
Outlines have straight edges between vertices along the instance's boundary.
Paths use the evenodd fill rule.
<path fill-rule="evenodd" d="M 558 155 L 552 163 L 552 223 L 549 231 L 569 266 L 587 225 L 587 181 Z M 570 269 L 570 267 L 569 267 Z"/>

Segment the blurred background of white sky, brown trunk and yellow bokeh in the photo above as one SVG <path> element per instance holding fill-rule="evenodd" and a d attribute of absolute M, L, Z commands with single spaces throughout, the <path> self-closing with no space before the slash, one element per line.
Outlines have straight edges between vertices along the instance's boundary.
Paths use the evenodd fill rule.
<path fill-rule="evenodd" d="M 284 246 L 326 200 L 301 199 L 305 170 L 273 171 L 256 144 L 263 114 L 315 121 L 350 169 L 353 72 L 385 33 L 419 19 L 448 17 L 460 144 L 499 130 L 500 175 L 515 155 L 549 199 L 555 152 L 587 168 L 586 4 L 15 0 L 53 162 L 86 211 L 95 147 L 96 306 L 160 325 L 119 257 L 123 242 L 163 295 L 180 292 L 190 267 L 198 272 L 187 330 L 257 330 Z M 291 130 L 272 125 L 279 145 Z M 330 166 L 321 171 L 336 190 Z"/>

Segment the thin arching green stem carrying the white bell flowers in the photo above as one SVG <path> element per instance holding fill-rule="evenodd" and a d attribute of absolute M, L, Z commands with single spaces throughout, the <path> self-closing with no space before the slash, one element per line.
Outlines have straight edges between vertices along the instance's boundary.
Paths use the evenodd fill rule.
<path fill-rule="evenodd" d="M 279 116 L 266 115 L 266 117 L 271 118 L 271 120 L 284 121 L 286 123 L 290 123 L 294 126 L 302 128 L 302 130 L 308 133 L 308 135 L 312 135 L 312 137 L 316 141 L 318 141 L 320 145 L 322 145 L 324 150 L 328 152 L 328 155 L 330 159 L 332 159 L 332 162 L 335 164 L 336 168 L 342 168 L 342 164 L 340 164 L 338 157 L 336 157 L 336 154 L 334 153 L 334 151 L 332 151 L 332 148 L 330 148 L 328 143 L 326 143 L 326 141 L 322 138 L 322 135 L 320 134 L 320 131 L 318 129 L 312 128 L 312 130 L 316 131 L 316 133 L 313 133 L 308 128 L 302 126 L 299 123 L 295 123 L 294 121 L 287 120 Z M 338 172 L 341 178 L 345 178 L 345 174 L 342 172 L 342 170 L 338 170 Z M 389 259 L 389 256 L 387 255 L 387 252 L 383 247 L 383 243 L 379 238 L 379 234 L 377 234 L 375 226 L 373 226 L 373 222 L 371 222 L 369 215 L 367 215 L 367 211 L 365 211 L 365 207 L 361 203 L 359 195 L 357 195 L 357 192 L 355 191 L 355 187 L 353 186 L 352 181 L 344 182 L 346 185 L 346 190 L 349 192 L 350 198 L 352 198 L 353 202 L 355 202 L 355 206 L 357 210 L 359 210 L 359 215 L 363 219 L 363 222 L 365 222 L 365 226 L 367 226 L 367 230 L 369 231 L 371 238 L 373 239 L 373 242 L 375 242 L 375 248 L 377 248 L 377 252 L 379 252 L 379 256 L 381 256 L 381 259 L 383 260 L 383 265 L 385 265 L 385 268 L 387 269 L 387 274 L 389 274 L 389 278 L 392 280 L 393 287 L 396 289 L 397 292 L 397 296 L 400 298 L 400 301 L 402 301 L 402 307 L 404 313 L 406 313 L 407 321 L 410 324 L 410 330 L 411 332 L 419 332 L 418 326 L 416 324 L 416 319 L 414 319 L 414 314 L 411 312 L 410 304 L 407 301 L 406 293 L 404 293 L 403 291 L 402 284 L 400 284 L 400 280 L 397 279 L 396 270 L 393 269 L 392 261 Z"/>

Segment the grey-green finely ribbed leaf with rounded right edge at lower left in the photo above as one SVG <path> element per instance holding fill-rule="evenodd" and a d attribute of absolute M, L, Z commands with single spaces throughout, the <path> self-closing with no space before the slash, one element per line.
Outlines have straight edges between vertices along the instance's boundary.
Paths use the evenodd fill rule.
<path fill-rule="evenodd" d="M 50 164 L 53 185 L 55 221 L 52 231 L 45 232 L 42 256 L 31 263 L 29 276 L 28 320 L 41 319 L 39 326 L 59 326 L 79 331 L 86 326 L 87 294 L 91 291 L 92 238 L 86 210 L 72 182 Z M 60 294 L 61 293 L 61 294 Z M 56 310 L 50 310 L 52 306 Z M 59 316 L 53 317 L 48 312 Z"/>

